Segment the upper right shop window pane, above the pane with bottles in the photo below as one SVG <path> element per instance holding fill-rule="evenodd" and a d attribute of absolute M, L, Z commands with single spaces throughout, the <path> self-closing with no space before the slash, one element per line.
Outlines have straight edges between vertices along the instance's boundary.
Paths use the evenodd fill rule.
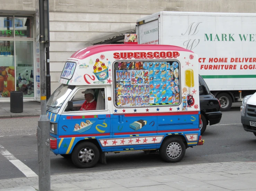
<path fill-rule="evenodd" d="M 15 16 L 15 38 L 33 38 L 33 17 Z"/>

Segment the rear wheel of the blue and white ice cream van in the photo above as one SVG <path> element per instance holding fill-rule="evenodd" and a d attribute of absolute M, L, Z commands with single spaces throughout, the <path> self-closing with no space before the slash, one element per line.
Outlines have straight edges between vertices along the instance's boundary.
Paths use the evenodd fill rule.
<path fill-rule="evenodd" d="M 178 162 L 182 160 L 185 152 L 186 148 L 183 140 L 177 137 L 166 139 L 159 149 L 161 158 L 166 162 Z"/>

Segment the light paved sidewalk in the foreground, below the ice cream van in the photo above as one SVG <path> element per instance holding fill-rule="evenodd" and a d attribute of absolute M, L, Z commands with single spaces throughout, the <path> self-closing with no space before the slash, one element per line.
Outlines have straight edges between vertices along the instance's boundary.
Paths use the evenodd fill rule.
<path fill-rule="evenodd" d="M 51 176 L 54 191 L 255 191 L 256 162 L 222 162 Z M 0 191 L 38 190 L 38 177 L 0 180 Z"/>

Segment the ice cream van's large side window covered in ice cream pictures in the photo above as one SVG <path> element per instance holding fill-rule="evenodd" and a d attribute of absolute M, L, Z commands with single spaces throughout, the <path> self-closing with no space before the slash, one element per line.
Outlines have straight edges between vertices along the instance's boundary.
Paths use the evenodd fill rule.
<path fill-rule="evenodd" d="M 115 105 L 148 107 L 178 105 L 180 81 L 178 61 L 115 62 Z"/>

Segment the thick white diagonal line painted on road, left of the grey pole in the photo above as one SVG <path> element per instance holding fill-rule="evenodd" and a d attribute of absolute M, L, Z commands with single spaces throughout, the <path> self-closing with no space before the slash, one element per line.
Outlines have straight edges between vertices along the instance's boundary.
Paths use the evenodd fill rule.
<path fill-rule="evenodd" d="M 0 144 L 0 153 L 9 160 L 12 164 L 15 165 L 26 177 L 38 177 L 37 174 L 31 170 L 26 164 L 18 160 L 14 155 L 12 155 L 9 151 L 7 151 L 1 144 Z"/>

